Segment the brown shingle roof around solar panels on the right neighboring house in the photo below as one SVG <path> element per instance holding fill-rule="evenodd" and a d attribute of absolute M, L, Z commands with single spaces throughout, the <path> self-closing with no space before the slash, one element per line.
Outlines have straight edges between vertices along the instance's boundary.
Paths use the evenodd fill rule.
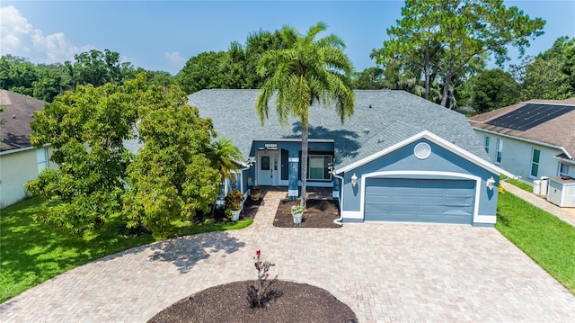
<path fill-rule="evenodd" d="M 544 110 L 547 112 L 553 112 L 553 109 L 561 109 L 563 113 L 556 113 L 560 115 L 549 120 L 544 118 L 543 121 L 531 128 L 515 127 L 513 124 L 498 122 L 498 120 L 513 117 L 519 112 L 528 112 L 530 106 L 544 106 Z M 521 118 L 522 116 L 518 117 Z M 528 114 L 523 116 L 524 121 L 528 121 L 527 119 L 529 118 L 531 117 Z M 470 118 L 469 121 L 475 129 L 493 131 L 506 136 L 517 137 L 517 139 L 529 139 L 553 145 L 565 149 L 571 157 L 575 157 L 575 97 L 567 100 L 530 100 L 478 114 Z M 519 121 L 522 122 L 521 120 Z"/>

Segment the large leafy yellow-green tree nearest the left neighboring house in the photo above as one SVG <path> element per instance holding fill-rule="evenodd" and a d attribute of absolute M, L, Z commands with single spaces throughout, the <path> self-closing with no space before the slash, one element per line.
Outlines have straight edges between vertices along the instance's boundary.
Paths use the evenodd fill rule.
<path fill-rule="evenodd" d="M 76 236 L 102 226 L 121 211 L 126 168 L 133 159 L 123 140 L 133 138 L 137 103 L 145 76 L 126 85 L 80 85 L 57 96 L 31 123 L 31 143 L 55 148 L 50 160 L 57 169 L 44 169 L 26 189 L 56 206 L 37 220 Z"/>

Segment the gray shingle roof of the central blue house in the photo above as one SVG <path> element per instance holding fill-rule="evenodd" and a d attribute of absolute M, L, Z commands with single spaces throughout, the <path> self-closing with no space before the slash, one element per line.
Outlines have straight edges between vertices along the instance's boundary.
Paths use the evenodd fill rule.
<path fill-rule="evenodd" d="M 301 135 L 296 119 L 290 119 L 288 126 L 279 125 L 273 98 L 270 116 L 262 127 L 255 112 L 258 94 L 260 90 L 211 89 L 190 94 L 188 98 L 190 105 L 199 108 L 200 116 L 212 119 L 217 134 L 232 139 L 247 158 L 252 140 L 293 139 Z M 393 146 L 422 130 L 490 161 L 464 115 L 458 112 L 404 91 L 355 91 L 355 98 L 355 112 L 343 125 L 332 108 L 310 108 L 309 138 L 333 139 L 338 167 Z"/>

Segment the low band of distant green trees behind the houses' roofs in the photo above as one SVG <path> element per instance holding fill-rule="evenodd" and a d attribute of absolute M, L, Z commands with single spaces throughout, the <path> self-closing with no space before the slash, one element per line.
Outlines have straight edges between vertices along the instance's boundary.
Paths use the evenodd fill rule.
<path fill-rule="evenodd" d="M 120 63 L 119 53 L 108 49 L 93 49 L 75 55 L 73 62 L 49 65 L 34 65 L 26 58 L 5 55 L 0 58 L 0 88 L 52 102 L 56 95 L 74 90 L 77 85 L 123 84 L 140 72 L 146 72 L 149 85 L 176 84 L 187 94 L 210 88 L 260 88 L 265 78 L 257 71 L 261 55 L 284 47 L 279 31 L 256 31 L 248 35 L 244 44 L 233 41 L 226 51 L 207 51 L 191 57 L 176 76 Z M 373 50 L 371 57 L 378 64 L 355 73 L 349 80 L 354 89 L 404 90 L 441 103 L 446 84 L 440 68 L 426 76 L 417 64 L 384 59 L 384 53 L 384 49 Z M 487 112 L 520 101 L 575 96 L 575 38 L 561 37 L 551 49 L 524 58 L 509 66 L 508 71 L 485 69 L 486 59 L 484 55 L 472 59 L 450 76 L 448 108 L 470 106 L 476 112 Z"/>

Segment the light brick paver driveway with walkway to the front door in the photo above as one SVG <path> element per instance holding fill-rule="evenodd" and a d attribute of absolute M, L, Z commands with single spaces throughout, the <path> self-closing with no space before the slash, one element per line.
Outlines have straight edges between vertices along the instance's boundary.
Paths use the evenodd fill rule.
<path fill-rule="evenodd" d="M 575 297 L 497 230 L 449 225 L 271 226 L 176 238 L 78 267 L 0 306 L 3 322 L 144 322 L 193 292 L 252 279 L 256 249 L 279 278 L 332 292 L 360 321 L 575 321 Z"/>

